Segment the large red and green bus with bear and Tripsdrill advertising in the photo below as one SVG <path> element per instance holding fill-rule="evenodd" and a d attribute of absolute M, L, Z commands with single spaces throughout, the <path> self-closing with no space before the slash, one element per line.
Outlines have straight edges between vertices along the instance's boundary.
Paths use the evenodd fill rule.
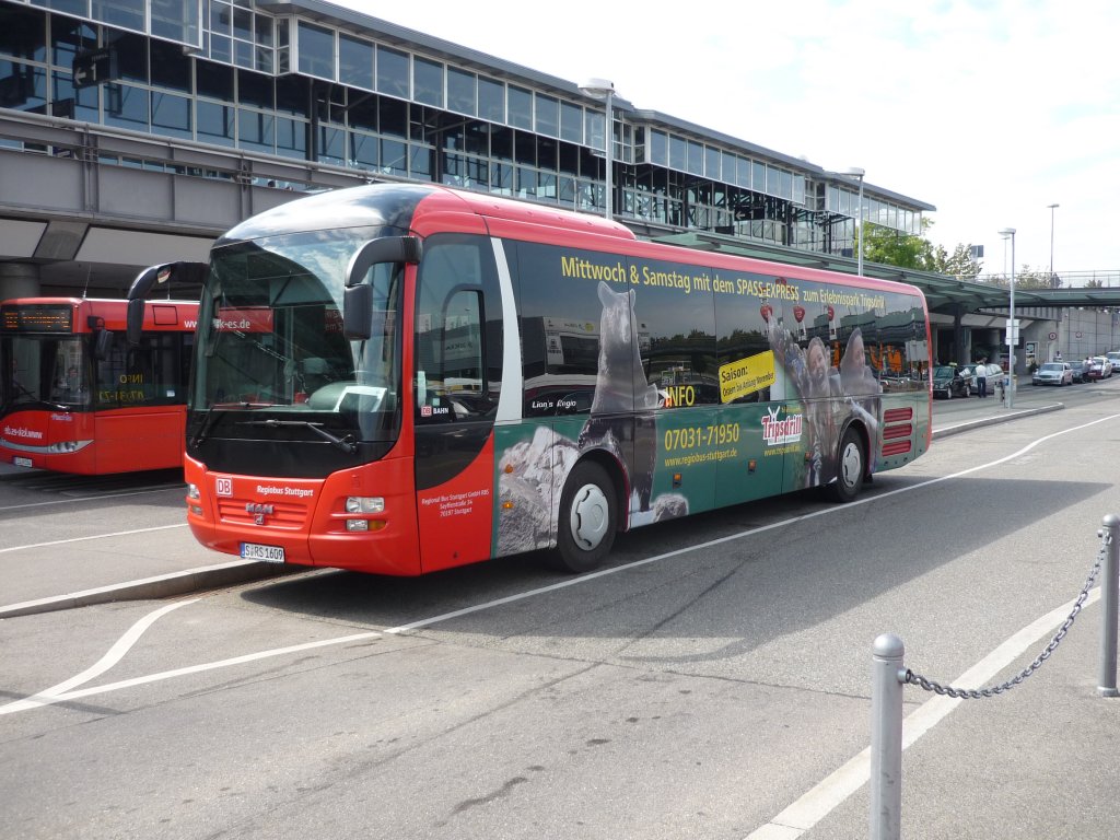
<path fill-rule="evenodd" d="M 585 571 L 620 531 L 911 463 L 928 347 L 908 284 L 437 185 L 309 196 L 212 250 L 187 521 L 265 562 Z"/>

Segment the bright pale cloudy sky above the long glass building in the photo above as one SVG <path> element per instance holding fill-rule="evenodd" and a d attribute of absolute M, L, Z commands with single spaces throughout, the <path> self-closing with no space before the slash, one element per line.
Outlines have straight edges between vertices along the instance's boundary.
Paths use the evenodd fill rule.
<path fill-rule="evenodd" d="M 825 169 L 861 167 L 937 208 L 935 245 L 982 245 L 982 273 L 1010 270 L 998 232 L 1014 227 L 1016 271 L 1053 258 L 1060 274 L 1120 284 L 1114 0 L 339 4 L 576 84 L 610 80 L 635 108 Z"/>

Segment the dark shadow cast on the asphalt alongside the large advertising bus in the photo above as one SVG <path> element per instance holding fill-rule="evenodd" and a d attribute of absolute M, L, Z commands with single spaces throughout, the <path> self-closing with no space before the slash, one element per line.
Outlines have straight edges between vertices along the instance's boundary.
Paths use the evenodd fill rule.
<path fill-rule="evenodd" d="M 1112 489 L 1101 483 L 970 478 L 967 492 L 959 484 L 954 493 L 931 488 L 935 505 L 900 502 L 905 495 L 875 500 L 923 480 L 877 477 L 855 505 L 822 502 L 818 492 L 804 491 L 650 525 L 620 534 L 607 563 L 590 575 L 557 572 L 544 552 L 533 552 L 419 578 L 321 570 L 241 597 L 333 622 L 494 640 L 641 635 L 671 620 L 681 635 L 739 638 L 731 648 L 741 652 L 828 622 L 1011 533 L 1044 528 L 1048 516 L 1062 517 L 1071 544 L 1067 551 L 1048 547 L 1047 557 L 1061 552 L 1065 560 L 1074 552 L 1088 572 L 1101 519 L 1112 512 L 1090 503 Z M 1061 498 L 1061 507 L 1025 502 L 1046 498 Z M 990 515 L 978 516 L 977 500 L 992 501 Z M 907 513 L 915 510 L 921 515 Z M 1029 572 L 1015 572 L 1032 585 Z M 689 613 L 691 619 L 681 618 Z"/>

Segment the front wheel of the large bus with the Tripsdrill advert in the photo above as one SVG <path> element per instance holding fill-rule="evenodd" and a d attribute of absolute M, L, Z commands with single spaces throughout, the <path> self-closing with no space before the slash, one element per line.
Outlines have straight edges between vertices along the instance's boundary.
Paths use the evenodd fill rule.
<path fill-rule="evenodd" d="M 617 508 L 614 483 L 607 470 L 594 461 L 577 464 L 560 496 L 552 564 L 573 573 L 597 568 L 614 544 Z"/>

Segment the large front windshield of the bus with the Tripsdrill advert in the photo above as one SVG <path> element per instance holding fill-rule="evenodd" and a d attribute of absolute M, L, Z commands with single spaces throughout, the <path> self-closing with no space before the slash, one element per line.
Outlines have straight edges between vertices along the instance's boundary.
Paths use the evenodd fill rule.
<path fill-rule="evenodd" d="M 258 427 L 273 430 L 306 420 L 330 435 L 391 438 L 399 422 L 401 265 L 374 265 L 365 280 L 374 291 L 372 337 L 349 342 L 343 335 L 349 260 L 388 233 L 315 231 L 215 249 L 190 408 L 252 411 L 265 418 Z M 236 437 L 234 427 L 245 424 L 212 426 Z M 265 427 L 252 436 L 265 437 Z"/>

